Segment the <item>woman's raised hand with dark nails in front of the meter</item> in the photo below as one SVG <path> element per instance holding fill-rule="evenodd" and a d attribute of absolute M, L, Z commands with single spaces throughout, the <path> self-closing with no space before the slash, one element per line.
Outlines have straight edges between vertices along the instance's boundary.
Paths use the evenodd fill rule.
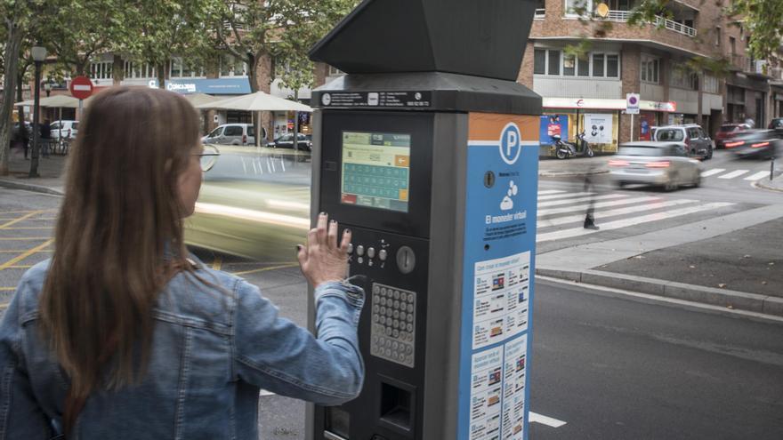
<path fill-rule="evenodd" d="M 299 266 L 307 281 L 318 287 L 327 281 L 343 281 L 348 274 L 348 244 L 351 231 L 343 231 L 343 239 L 337 246 L 337 222 L 328 221 L 329 216 L 321 212 L 318 225 L 307 234 L 307 245 L 297 244 Z"/>

